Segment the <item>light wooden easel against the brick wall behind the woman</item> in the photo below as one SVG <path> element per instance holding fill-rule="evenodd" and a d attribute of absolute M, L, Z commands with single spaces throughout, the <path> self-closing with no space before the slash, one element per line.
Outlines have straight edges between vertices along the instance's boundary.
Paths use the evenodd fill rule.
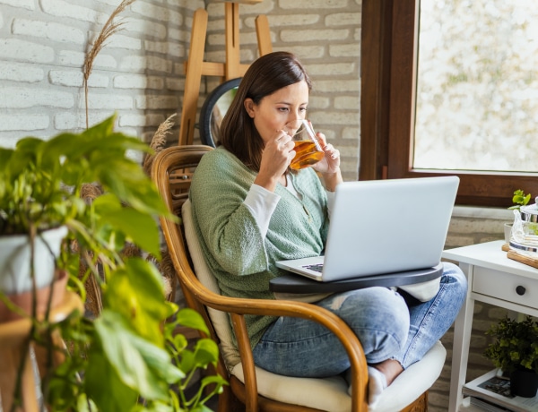
<path fill-rule="evenodd" d="M 204 9 L 195 11 L 193 28 L 191 30 L 191 45 L 186 63 L 187 77 L 183 94 L 183 109 L 179 125 L 179 145 L 193 143 L 196 121 L 196 108 L 200 93 L 202 76 L 218 76 L 221 82 L 242 77 L 249 64 L 239 61 L 239 3 L 255 4 L 263 0 L 247 0 L 242 2 L 226 2 L 225 7 L 225 36 L 226 63 L 204 62 L 205 38 L 207 35 L 207 12 Z M 273 51 L 271 34 L 267 16 L 256 17 L 256 37 L 260 56 Z"/>

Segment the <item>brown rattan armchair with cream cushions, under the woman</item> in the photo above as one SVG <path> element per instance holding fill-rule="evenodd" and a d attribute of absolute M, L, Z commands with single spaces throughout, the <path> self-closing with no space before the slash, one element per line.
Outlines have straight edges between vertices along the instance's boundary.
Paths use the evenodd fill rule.
<path fill-rule="evenodd" d="M 204 153 L 213 148 L 191 145 L 162 150 L 153 160 L 152 179 L 169 209 L 180 216 L 176 224 L 161 219 L 164 238 L 187 305 L 204 316 L 211 338 L 220 344 L 217 372 L 230 387 L 220 395 L 219 411 L 367 411 L 368 373 L 360 341 L 334 313 L 317 305 L 286 300 L 259 300 L 221 296 L 207 270 L 191 224 L 188 186 Z M 188 248 L 187 248 L 188 244 Z M 327 379 L 292 378 L 269 373 L 254 365 L 244 316 L 246 314 L 296 316 L 323 324 L 343 344 L 351 362 L 352 396 L 342 376 Z M 231 321 L 231 322 L 230 322 Z M 231 325 L 230 325 L 231 323 Z M 231 343 L 235 333 L 238 347 Z M 446 350 L 440 343 L 412 365 L 384 391 L 375 411 L 427 410 L 427 391 L 438 378 Z"/>

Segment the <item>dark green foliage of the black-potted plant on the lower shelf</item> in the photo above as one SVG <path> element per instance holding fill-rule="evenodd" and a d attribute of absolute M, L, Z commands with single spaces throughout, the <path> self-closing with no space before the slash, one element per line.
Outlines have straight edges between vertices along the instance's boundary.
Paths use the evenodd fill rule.
<path fill-rule="evenodd" d="M 505 373 L 516 370 L 538 373 L 538 322 L 531 316 L 522 322 L 507 316 L 491 325 L 486 334 L 495 339 L 484 351 L 493 365 Z"/>

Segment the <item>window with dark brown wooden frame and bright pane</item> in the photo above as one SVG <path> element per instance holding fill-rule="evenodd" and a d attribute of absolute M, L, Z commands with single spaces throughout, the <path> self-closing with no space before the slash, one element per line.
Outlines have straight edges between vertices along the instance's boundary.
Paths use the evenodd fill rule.
<path fill-rule="evenodd" d="M 538 13 L 507 10 L 521 3 L 429 0 L 421 10 L 419 0 L 363 1 L 360 179 L 456 174 L 459 204 L 506 207 L 519 188 L 538 196 L 536 53 L 516 41 L 525 37 L 522 45 L 536 47 L 536 24 L 526 21 L 538 21 Z M 486 21 L 469 18 L 473 10 Z M 462 12 L 466 19 L 458 18 Z M 489 34 L 488 25 L 494 26 Z M 477 43 L 479 35 L 488 38 Z M 484 55 L 490 59 L 477 47 L 490 47 Z M 525 53 L 528 61 L 516 67 L 506 61 Z M 484 85 L 481 74 L 491 73 L 497 77 Z M 500 99 L 508 95 L 512 100 Z"/>

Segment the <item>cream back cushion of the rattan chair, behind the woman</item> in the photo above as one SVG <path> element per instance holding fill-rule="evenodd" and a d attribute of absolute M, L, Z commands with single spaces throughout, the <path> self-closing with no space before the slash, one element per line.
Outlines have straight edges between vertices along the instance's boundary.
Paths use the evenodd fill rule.
<path fill-rule="evenodd" d="M 181 218 L 183 219 L 185 237 L 187 238 L 188 253 L 195 266 L 196 278 L 200 280 L 205 288 L 220 295 L 221 289 L 217 284 L 217 279 L 215 279 L 213 273 L 208 268 L 204 259 L 204 252 L 198 243 L 198 237 L 196 236 L 195 225 L 193 222 L 191 202 L 188 199 L 181 207 Z M 209 313 L 209 317 L 213 323 L 213 328 L 215 329 L 217 336 L 221 339 L 220 347 L 224 363 L 231 372 L 233 366 L 239 364 L 241 360 L 239 357 L 239 350 L 232 343 L 232 331 L 228 313 L 218 311 L 211 307 L 207 308 L 207 312 Z"/>

